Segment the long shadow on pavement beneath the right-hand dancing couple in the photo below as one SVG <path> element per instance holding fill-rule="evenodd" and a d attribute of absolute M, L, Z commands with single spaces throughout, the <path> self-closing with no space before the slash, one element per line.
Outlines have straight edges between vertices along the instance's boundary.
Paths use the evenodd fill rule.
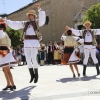
<path fill-rule="evenodd" d="M 80 77 L 80 78 L 62 78 L 60 80 L 56 80 L 57 82 L 67 83 L 67 82 L 75 82 L 75 81 L 90 81 L 93 79 L 100 79 L 94 76 L 86 76 L 86 77 Z"/>

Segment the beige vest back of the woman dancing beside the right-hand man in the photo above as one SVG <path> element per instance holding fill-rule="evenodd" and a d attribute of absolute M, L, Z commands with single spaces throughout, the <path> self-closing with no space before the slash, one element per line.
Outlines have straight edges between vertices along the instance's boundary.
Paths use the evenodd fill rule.
<path fill-rule="evenodd" d="M 64 41 L 64 47 L 66 46 L 75 46 L 78 47 L 78 42 L 74 39 L 72 36 L 67 36 L 65 41 Z"/>

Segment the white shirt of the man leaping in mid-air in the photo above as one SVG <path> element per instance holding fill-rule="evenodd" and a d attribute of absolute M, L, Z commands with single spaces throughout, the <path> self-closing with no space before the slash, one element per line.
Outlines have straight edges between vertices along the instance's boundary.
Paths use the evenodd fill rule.
<path fill-rule="evenodd" d="M 39 9 L 38 12 L 39 12 L 38 24 L 39 27 L 41 27 L 45 24 L 46 14 L 44 11 L 41 11 L 41 9 Z M 25 27 L 24 22 L 25 21 L 5 20 L 5 23 L 9 27 L 15 30 L 24 28 Z M 36 35 L 32 25 L 29 25 L 28 29 L 26 30 L 26 35 Z M 24 47 L 40 47 L 40 44 L 38 40 L 24 40 Z"/>

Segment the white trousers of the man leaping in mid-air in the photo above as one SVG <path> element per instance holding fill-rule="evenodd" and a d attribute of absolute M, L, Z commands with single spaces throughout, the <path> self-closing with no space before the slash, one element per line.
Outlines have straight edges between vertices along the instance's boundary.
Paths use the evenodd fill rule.
<path fill-rule="evenodd" d="M 25 49 L 25 56 L 26 61 L 29 68 L 38 68 L 38 62 L 37 62 L 37 54 L 38 49 L 37 48 L 24 48 Z"/>

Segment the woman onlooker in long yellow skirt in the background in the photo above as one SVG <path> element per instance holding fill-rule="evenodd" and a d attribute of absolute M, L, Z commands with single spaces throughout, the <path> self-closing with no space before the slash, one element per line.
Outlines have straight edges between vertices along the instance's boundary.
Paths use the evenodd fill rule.
<path fill-rule="evenodd" d="M 54 42 L 54 63 L 59 64 L 60 59 L 61 59 L 61 56 L 59 54 L 59 45 L 55 41 Z"/>

